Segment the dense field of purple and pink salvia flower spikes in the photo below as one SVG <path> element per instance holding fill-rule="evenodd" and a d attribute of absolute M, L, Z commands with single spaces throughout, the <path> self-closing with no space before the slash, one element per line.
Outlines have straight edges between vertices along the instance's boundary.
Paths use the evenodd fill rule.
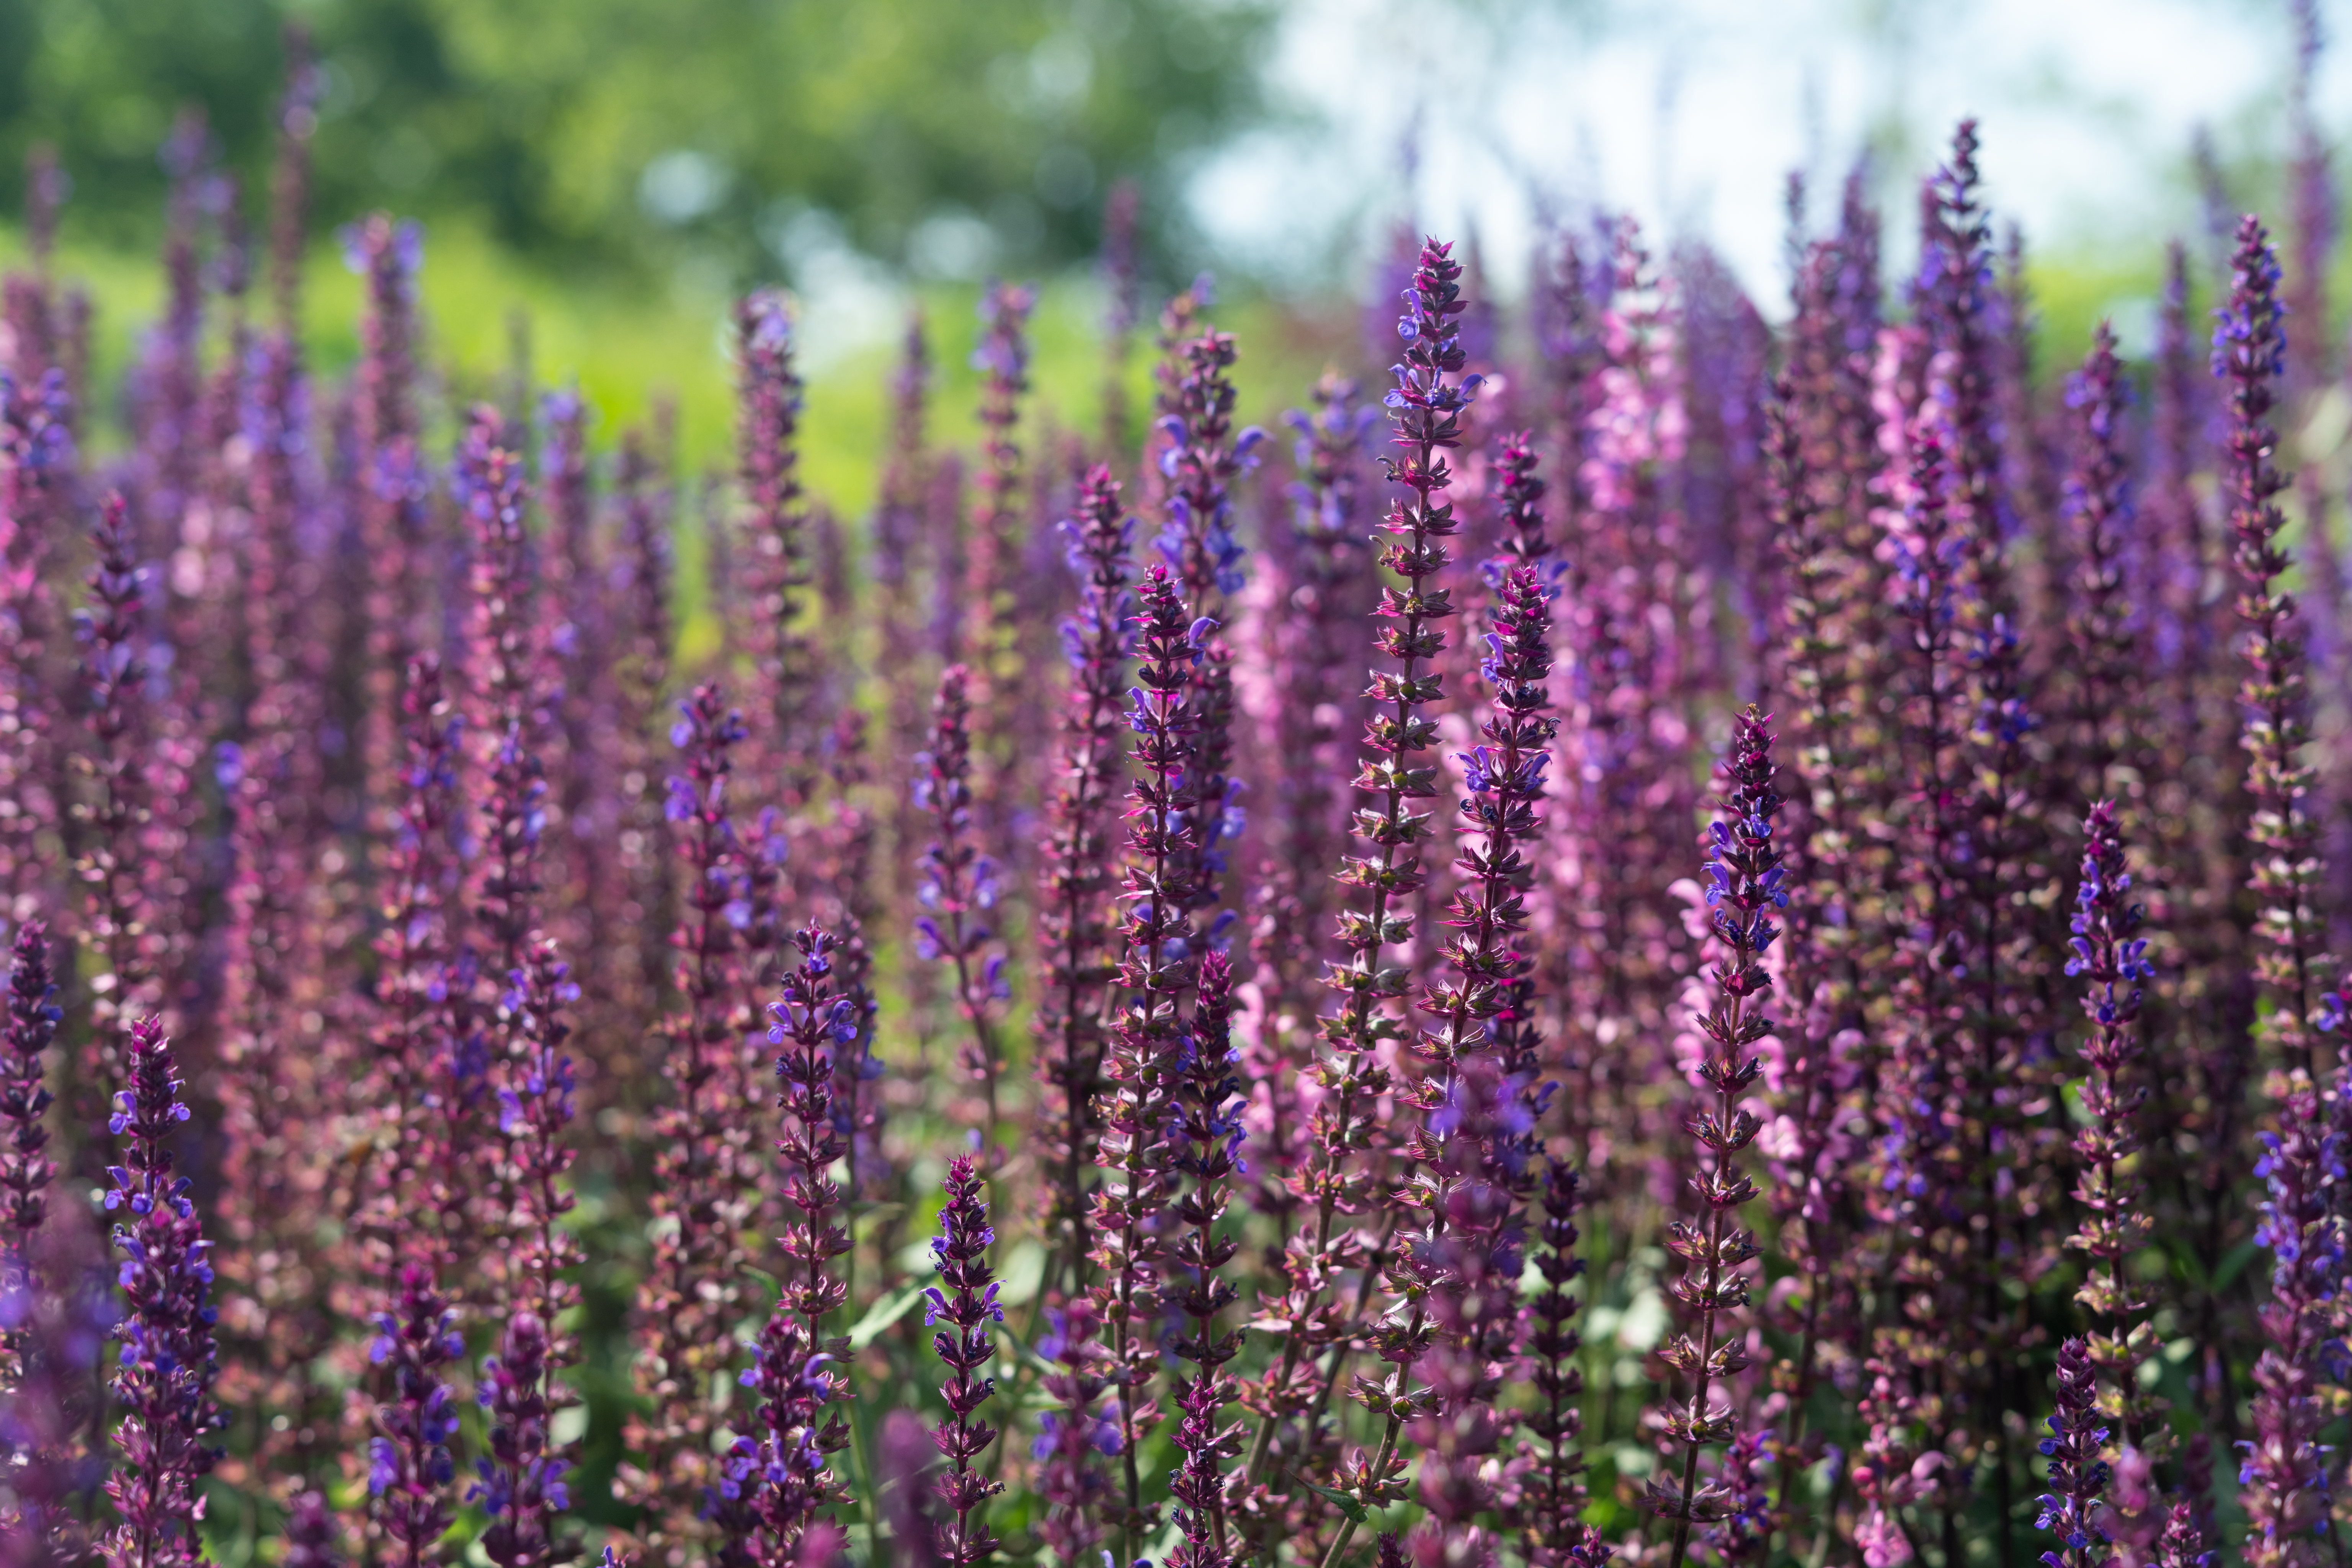
<path fill-rule="evenodd" d="M 2343 1559 L 2312 202 L 2049 376 L 1973 125 L 1785 329 L 1428 240 L 1287 442 L 1115 242 L 1101 435 L 993 287 L 842 522 L 781 294 L 701 494 L 388 219 L 315 374 L 285 127 L 120 456 L 7 280 L 7 1563 Z"/>

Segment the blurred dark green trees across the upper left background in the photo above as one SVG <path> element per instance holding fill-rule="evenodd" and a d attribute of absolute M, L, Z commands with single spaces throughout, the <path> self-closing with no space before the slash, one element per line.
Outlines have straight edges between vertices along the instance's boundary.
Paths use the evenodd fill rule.
<path fill-rule="evenodd" d="M 261 188 L 299 21 L 325 68 L 315 214 L 456 216 L 560 268 L 917 275 L 1094 252 L 1143 188 L 1183 252 L 1188 160 L 1263 113 L 1272 0 L 0 0 L 0 200 L 35 143 L 71 223 L 143 240 L 181 106 Z"/>

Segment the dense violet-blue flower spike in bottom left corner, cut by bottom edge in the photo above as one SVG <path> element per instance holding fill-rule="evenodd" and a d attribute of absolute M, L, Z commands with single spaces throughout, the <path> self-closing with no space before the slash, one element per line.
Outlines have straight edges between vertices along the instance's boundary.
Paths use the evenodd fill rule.
<path fill-rule="evenodd" d="M 106 1481 L 120 1523 L 99 1552 L 108 1568 L 169 1568 L 205 1556 L 195 1533 L 205 1516 L 200 1488 L 219 1460 L 209 1439 L 228 1418 L 212 1401 L 212 1244 L 188 1201 L 188 1178 L 172 1175 L 169 1143 L 188 1107 L 162 1020 L 132 1025 L 125 1081 L 108 1119 L 122 1164 L 106 1171 L 106 1208 L 120 1215 L 115 1246 L 125 1258 L 122 1363 L 113 1380 L 120 1460 Z"/>

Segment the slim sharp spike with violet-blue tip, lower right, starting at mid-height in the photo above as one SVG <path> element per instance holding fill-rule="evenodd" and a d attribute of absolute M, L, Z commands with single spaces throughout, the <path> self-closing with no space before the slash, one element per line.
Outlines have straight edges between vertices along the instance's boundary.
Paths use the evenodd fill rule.
<path fill-rule="evenodd" d="M 2140 1150 L 2140 1112 L 2147 1088 L 2138 1081 L 2140 983 L 2154 980 L 2147 938 L 2138 936 L 2140 905 L 2131 900 L 2124 867 L 2124 835 L 2114 802 L 2098 802 L 2084 820 L 2082 889 L 2074 896 L 2074 954 L 2065 971 L 2086 983 L 2084 1011 L 2091 1037 L 2082 1063 L 2082 1110 L 2089 1121 L 2074 1133 L 2079 1175 L 2074 1201 L 2084 1222 L 2067 1246 L 2091 1258 L 2074 1300 L 2107 1324 L 2084 1354 L 2117 1389 L 2117 1436 L 2131 1448 L 2159 1436 L 2154 1403 L 2140 1392 L 2140 1363 L 2154 1349 L 2150 1302 L 2133 1286 L 2124 1260 L 2147 1246 L 2150 1218 L 2133 1154 Z"/>

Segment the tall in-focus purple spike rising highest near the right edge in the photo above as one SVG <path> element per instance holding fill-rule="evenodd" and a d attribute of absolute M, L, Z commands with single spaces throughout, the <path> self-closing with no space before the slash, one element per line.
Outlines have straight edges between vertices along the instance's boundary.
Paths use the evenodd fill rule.
<path fill-rule="evenodd" d="M 2279 261 L 2270 235 L 2251 214 L 2237 230 L 2230 270 L 2230 306 L 2213 327 L 2213 374 L 2223 378 L 2230 418 L 2230 529 L 2237 536 L 2237 569 L 2246 578 L 2239 618 L 2246 623 L 2244 703 L 2246 792 L 2253 797 L 2253 893 L 2263 905 L 2256 978 L 2272 997 L 2263 1030 L 2281 1065 L 2317 1072 L 2312 1009 L 2317 980 L 2326 971 L 2317 907 L 2326 867 L 2319 858 L 2310 795 L 2312 769 L 2300 762 L 2310 738 L 2303 691 L 2303 632 L 2296 597 L 2279 592 L 2293 564 L 2279 534 L 2286 517 L 2277 496 L 2286 480 L 2272 468 L 2279 435 L 2270 411 L 2279 402 L 2277 381 L 2286 362 L 2284 310 L 2279 308 Z"/>

